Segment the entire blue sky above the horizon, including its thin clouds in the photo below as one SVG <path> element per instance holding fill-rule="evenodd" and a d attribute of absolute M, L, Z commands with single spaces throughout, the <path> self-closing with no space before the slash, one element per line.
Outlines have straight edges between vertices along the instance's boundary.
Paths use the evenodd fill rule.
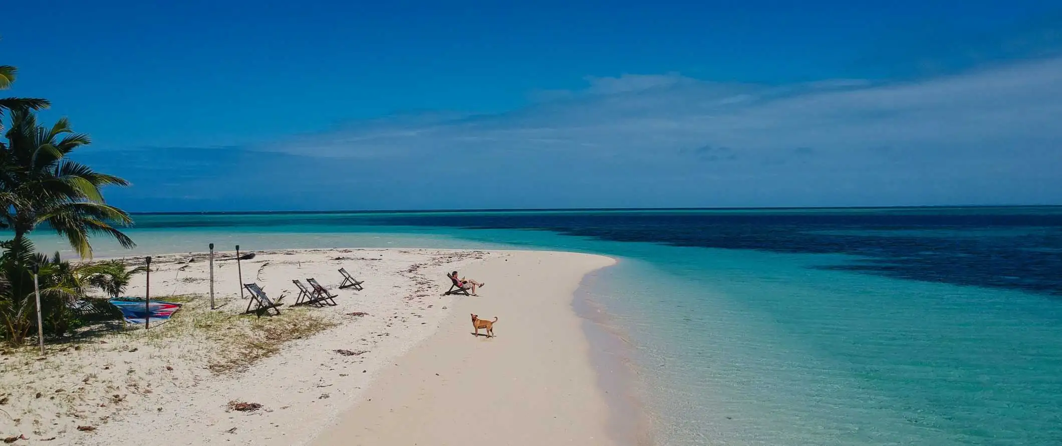
<path fill-rule="evenodd" d="M 1062 203 L 1057 2 L 145 3 L 0 29 L 130 210 Z"/>

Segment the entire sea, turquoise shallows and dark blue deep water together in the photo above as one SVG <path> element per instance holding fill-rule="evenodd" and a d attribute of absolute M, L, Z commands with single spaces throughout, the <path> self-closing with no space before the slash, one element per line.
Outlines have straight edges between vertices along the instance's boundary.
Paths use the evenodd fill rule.
<path fill-rule="evenodd" d="M 1062 444 L 1059 207 L 135 218 L 137 248 L 97 256 L 213 242 L 616 257 L 581 298 L 628 342 L 661 445 Z"/>

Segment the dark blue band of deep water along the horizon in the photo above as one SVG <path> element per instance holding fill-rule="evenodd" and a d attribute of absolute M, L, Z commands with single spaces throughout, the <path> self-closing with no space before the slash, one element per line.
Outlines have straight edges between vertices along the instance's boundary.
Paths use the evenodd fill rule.
<path fill-rule="evenodd" d="M 143 216 L 137 227 L 541 229 L 673 246 L 846 254 L 816 268 L 1062 296 L 1062 207 Z"/>

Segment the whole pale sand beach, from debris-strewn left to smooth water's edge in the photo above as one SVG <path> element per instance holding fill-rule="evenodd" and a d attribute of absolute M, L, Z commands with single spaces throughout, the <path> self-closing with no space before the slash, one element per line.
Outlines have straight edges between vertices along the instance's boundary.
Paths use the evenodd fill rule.
<path fill-rule="evenodd" d="M 3 351 L 0 410 L 7 416 L 0 414 L 0 436 L 49 445 L 296 445 L 413 444 L 428 434 L 432 441 L 419 444 L 463 444 L 477 432 L 507 439 L 496 444 L 614 444 L 582 320 L 571 308 L 583 275 L 612 259 L 397 248 L 256 254 L 242 262 L 244 282 L 257 281 L 274 297 L 286 293 L 292 304 L 291 280 L 316 277 L 340 295 L 339 306 L 236 316 L 246 301 L 239 299 L 235 265 L 219 262 L 217 295 L 229 304 L 209 311 L 202 297 L 206 262 L 187 262 L 202 256 L 156 256 L 153 298 L 199 297 L 170 326 L 148 332 L 52 344 L 42 360 L 24 349 Z M 340 267 L 365 280 L 365 290 L 338 290 Z M 478 297 L 443 296 L 451 270 L 489 285 Z M 137 282 L 127 294 L 142 295 L 142 279 Z M 473 338 L 469 312 L 497 315 L 498 337 Z M 276 342 L 276 351 L 263 358 L 244 357 L 246 345 L 264 345 L 274 333 L 294 338 Z M 421 391 L 405 390 L 410 383 Z M 369 395 L 377 396 L 370 401 Z M 233 411 L 232 401 L 262 407 Z M 335 442 L 352 434 L 364 443 Z"/>

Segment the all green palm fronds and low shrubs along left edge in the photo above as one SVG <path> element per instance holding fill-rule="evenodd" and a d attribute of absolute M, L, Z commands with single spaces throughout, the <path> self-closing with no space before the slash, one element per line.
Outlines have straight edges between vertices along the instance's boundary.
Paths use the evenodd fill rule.
<path fill-rule="evenodd" d="M 0 89 L 11 87 L 17 73 L 15 67 L 0 65 Z M 39 124 L 34 112 L 50 105 L 44 99 L 0 99 L 0 131 L 5 130 L 6 139 L 0 141 L 0 229 L 13 235 L 0 241 L 0 336 L 12 345 L 22 344 L 36 327 L 34 270 L 42 326 L 53 336 L 83 323 L 71 304 L 86 298 L 89 290 L 118 296 L 130 278 L 143 271 L 120 262 L 74 265 L 59 259 L 58 253 L 52 257 L 36 253 L 28 238 L 34 229 L 47 227 L 66 237 L 82 258 L 91 258 L 93 235 L 112 237 L 125 247 L 134 245 L 118 229 L 132 219 L 103 199 L 104 187 L 129 183 L 71 160 L 70 153 L 90 139 L 74 133 L 66 118 L 51 126 Z"/>

